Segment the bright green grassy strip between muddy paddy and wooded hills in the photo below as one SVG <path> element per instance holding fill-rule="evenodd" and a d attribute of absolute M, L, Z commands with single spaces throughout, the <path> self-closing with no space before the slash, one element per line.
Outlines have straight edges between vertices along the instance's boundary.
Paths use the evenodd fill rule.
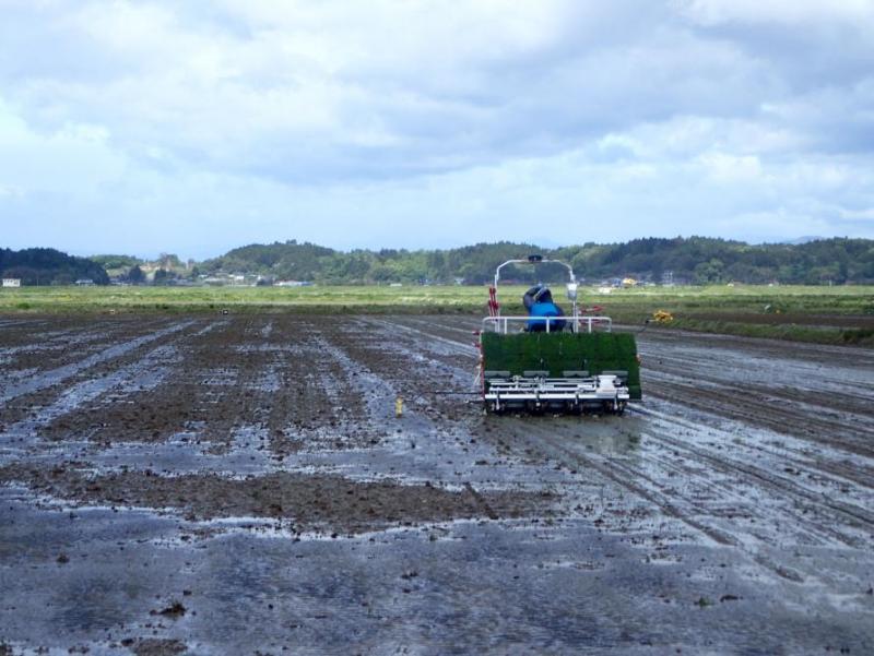
<path fill-rule="evenodd" d="M 521 287 L 501 289 L 505 314 L 521 314 Z M 556 290 L 557 291 L 557 290 Z M 668 327 L 823 344 L 874 345 L 874 287 L 645 287 L 599 295 L 587 305 L 624 324 L 656 310 Z M 0 289 L 1 313 L 371 312 L 485 314 L 485 287 L 24 287 Z M 567 310 L 567 301 L 556 299 Z"/>

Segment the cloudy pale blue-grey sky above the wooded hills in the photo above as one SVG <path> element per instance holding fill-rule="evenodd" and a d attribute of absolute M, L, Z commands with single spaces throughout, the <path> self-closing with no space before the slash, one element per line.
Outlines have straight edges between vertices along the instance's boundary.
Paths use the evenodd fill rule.
<path fill-rule="evenodd" d="M 874 237 L 874 0 L 0 0 L 0 246 Z"/>

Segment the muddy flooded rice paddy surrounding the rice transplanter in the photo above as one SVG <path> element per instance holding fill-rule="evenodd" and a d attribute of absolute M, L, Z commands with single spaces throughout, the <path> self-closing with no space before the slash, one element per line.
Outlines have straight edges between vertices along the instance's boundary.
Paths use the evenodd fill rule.
<path fill-rule="evenodd" d="M 477 325 L 0 317 L 0 655 L 874 653 L 874 351 L 495 417 Z"/>

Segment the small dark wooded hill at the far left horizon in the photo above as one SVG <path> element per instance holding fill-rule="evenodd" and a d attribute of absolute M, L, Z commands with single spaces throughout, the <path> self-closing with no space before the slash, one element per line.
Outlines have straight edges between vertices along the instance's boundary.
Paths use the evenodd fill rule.
<path fill-rule="evenodd" d="M 20 278 L 23 285 L 70 285 L 85 278 L 95 285 L 109 284 L 106 270 L 96 262 L 50 248 L 0 248 L 0 277 Z"/>

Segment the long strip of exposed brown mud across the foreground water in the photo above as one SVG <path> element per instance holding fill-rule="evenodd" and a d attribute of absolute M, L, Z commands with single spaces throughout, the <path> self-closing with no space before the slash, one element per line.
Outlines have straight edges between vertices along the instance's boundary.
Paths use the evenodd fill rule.
<path fill-rule="evenodd" d="M 430 484 L 361 482 L 336 476 L 275 473 L 227 478 L 165 477 L 151 470 L 91 476 L 74 465 L 50 469 L 9 465 L 0 480 L 82 505 L 167 509 L 189 520 L 270 517 L 290 520 L 296 533 L 345 534 L 458 518 L 491 520 L 541 513 L 550 492 L 477 492 L 471 486 L 445 490 Z"/>

